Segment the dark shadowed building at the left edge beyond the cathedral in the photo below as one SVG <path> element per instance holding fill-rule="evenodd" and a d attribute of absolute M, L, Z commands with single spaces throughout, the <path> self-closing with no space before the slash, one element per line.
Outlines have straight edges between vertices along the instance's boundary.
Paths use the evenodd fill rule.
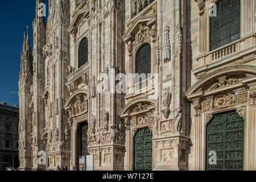
<path fill-rule="evenodd" d="M 18 133 L 19 108 L 1 102 L 0 104 L 0 171 L 6 167 L 19 167 Z"/>

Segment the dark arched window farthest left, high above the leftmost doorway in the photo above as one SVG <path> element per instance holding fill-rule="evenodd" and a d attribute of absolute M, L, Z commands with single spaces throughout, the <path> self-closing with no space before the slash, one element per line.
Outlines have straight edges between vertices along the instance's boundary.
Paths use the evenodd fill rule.
<path fill-rule="evenodd" d="M 78 68 L 80 68 L 82 65 L 88 62 L 88 39 L 84 38 L 81 40 L 81 43 L 79 45 L 79 64 Z"/>

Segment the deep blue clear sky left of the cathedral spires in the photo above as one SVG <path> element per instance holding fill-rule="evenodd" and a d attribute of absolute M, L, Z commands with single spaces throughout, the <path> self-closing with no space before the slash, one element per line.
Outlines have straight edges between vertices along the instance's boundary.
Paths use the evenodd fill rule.
<path fill-rule="evenodd" d="M 32 47 L 35 6 L 36 0 L 0 0 L 0 102 L 19 105 L 18 81 L 23 32 L 27 31 L 28 25 Z"/>

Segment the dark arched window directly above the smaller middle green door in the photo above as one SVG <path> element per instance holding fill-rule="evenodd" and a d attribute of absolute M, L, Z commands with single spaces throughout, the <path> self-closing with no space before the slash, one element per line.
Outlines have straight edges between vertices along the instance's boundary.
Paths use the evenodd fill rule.
<path fill-rule="evenodd" d="M 141 75 L 142 73 L 151 73 L 151 47 L 150 44 L 144 44 L 138 51 L 136 56 L 135 72 Z M 143 81 L 144 79 L 142 78 Z M 138 82 L 139 80 L 136 80 Z"/>

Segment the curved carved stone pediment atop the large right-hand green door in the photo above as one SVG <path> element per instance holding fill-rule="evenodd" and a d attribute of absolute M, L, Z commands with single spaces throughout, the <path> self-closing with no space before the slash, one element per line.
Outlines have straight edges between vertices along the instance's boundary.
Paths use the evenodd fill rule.
<path fill-rule="evenodd" d="M 185 95 L 192 100 L 197 97 L 214 95 L 217 92 L 243 88 L 255 80 L 256 67 L 254 65 L 230 65 L 208 73 L 191 86 Z"/>

